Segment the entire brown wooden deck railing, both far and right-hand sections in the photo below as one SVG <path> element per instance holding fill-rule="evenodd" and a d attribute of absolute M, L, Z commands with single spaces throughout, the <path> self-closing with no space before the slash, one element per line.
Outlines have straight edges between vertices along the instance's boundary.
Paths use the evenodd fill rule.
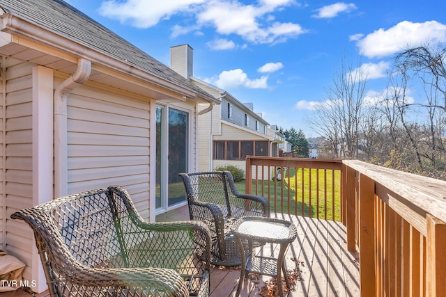
<path fill-rule="evenodd" d="M 273 211 L 346 225 L 361 296 L 446 296 L 446 182 L 353 160 L 250 156 L 245 173 Z"/>

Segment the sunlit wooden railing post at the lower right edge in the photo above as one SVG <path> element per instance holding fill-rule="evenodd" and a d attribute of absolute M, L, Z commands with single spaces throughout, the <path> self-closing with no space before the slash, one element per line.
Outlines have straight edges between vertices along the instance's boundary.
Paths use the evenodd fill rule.
<path fill-rule="evenodd" d="M 426 216 L 426 296 L 446 295 L 446 225 Z"/>

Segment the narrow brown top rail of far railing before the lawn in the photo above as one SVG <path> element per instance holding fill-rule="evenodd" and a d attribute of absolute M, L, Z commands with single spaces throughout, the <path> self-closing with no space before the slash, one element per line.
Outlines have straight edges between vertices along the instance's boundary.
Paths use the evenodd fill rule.
<path fill-rule="evenodd" d="M 335 159 L 307 159 L 307 158 L 279 158 L 271 156 L 247 156 L 251 165 L 280 166 L 316 169 L 341 169 L 342 160 Z"/>

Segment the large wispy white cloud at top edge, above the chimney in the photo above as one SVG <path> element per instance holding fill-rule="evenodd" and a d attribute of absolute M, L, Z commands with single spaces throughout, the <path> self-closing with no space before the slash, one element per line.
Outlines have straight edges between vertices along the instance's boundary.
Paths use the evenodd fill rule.
<path fill-rule="evenodd" d="M 99 11 L 105 17 L 137 28 L 149 28 L 173 15 L 187 13 L 196 23 L 177 24 L 172 28 L 172 37 L 211 26 L 222 35 L 237 34 L 254 43 L 276 43 L 307 32 L 299 24 L 274 22 L 275 11 L 292 5 L 298 3 L 295 0 L 258 0 L 256 4 L 238 0 L 107 0 Z"/>

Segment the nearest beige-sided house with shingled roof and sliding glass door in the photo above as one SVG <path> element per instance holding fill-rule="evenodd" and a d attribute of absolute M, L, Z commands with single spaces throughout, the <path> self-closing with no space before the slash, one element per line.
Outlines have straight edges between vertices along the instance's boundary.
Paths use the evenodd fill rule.
<path fill-rule="evenodd" d="M 198 168 L 198 104 L 219 101 L 63 1 L 0 0 L 0 21 L 0 242 L 41 292 L 33 233 L 10 214 L 119 184 L 155 220 L 184 204 L 170 190 Z"/>

